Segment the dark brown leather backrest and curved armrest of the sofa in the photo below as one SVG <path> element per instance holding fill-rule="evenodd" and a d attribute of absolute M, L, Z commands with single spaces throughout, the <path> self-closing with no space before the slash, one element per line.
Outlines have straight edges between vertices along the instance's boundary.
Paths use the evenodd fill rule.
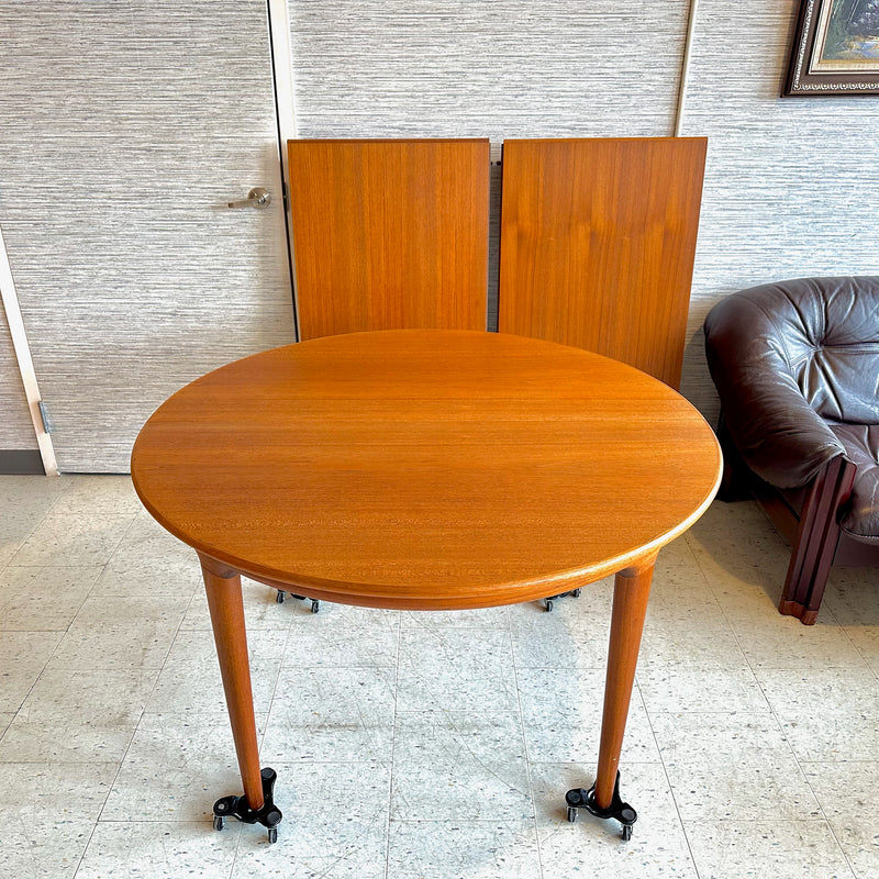
<path fill-rule="evenodd" d="M 754 287 L 704 329 L 730 434 L 767 482 L 805 486 L 844 454 L 830 423 L 879 424 L 879 277 Z"/>

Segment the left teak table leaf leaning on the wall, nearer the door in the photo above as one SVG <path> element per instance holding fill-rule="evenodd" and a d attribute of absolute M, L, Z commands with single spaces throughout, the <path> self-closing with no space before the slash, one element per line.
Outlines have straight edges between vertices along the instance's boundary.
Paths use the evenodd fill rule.
<path fill-rule="evenodd" d="M 288 144 L 301 340 L 486 329 L 488 140 Z"/>

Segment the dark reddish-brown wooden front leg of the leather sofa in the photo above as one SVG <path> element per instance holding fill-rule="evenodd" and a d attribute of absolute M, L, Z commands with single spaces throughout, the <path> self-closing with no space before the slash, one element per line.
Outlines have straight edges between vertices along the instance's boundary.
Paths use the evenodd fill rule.
<path fill-rule="evenodd" d="M 852 493 L 856 466 L 839 456 L 815 477 L 797 530 L 778 610 L 814 625 L 839 543 L 839 508 Z"/>

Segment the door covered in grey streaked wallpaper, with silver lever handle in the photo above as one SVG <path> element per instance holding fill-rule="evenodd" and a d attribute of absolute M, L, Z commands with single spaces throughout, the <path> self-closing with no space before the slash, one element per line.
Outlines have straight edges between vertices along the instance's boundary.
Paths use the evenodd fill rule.
<path fill-rule="evenodd" d="M 55 454 L 124 472 L 171 392 L 294 340 L 266 0 L 0 0 L 0 225 Z"/>

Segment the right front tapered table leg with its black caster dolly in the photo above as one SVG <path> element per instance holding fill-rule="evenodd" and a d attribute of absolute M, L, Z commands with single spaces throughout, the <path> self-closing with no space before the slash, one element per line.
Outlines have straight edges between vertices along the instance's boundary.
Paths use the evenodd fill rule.
<path fill-rule="evenodd" d="M 586 809 L 599 817 L 614 817 L 623 825 L 624 839 L 631 837 L 637 813 L 620 797 L 620 752 L 623 747 L 628 703 L 635 682 L 635 667 L 655 560 L 654 558 L 638 567 L 626 568 L 616 575 L 613 587 L 598 776 L 590 790 L 569 790 L 565 797 L 569 821 L 576 817 L 577 809 Z"/>

